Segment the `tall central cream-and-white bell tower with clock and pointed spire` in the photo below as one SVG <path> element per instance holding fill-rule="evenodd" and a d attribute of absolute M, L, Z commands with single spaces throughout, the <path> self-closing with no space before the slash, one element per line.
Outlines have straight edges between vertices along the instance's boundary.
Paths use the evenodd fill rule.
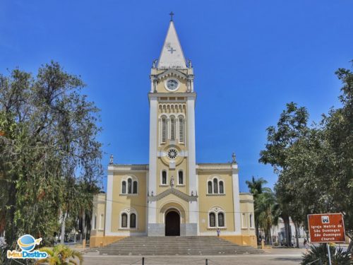
<path fill-rule="evenodd" d="M 166 203 L 153 196 L 177 192 L 194 196 L 185 203 L 186 235 L 198 231 L 195 102 L 193 67 L 186 61 L 171 15 L 159 59 L 150 73 L 150 154 L 148 175 L 148 235 L 164 235 L 159 208 Z M 184 195 L 183 195 L 184 194 Z"/>

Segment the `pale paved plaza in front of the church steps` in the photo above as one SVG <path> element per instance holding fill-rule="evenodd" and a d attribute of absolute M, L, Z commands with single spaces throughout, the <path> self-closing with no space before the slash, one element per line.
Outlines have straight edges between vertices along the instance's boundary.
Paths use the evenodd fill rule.
<path fill-rule="evenodd" d="M 265 249 L 265 254 L 243 254 L 243 255 L 219 255 L 219 256 L 147 256 L 145 257 L 145 265 L 203 265 L 205 259 L 208 259 L 208 265 L 227 265 L 227 264 L 300 264 L 301 255 L 304 249 Z M 112 256 L 88 253 L 84 256 L 84 264 L 119 264 L 133 265 L 142 264 L 142 257 L 138 256 Z"/>

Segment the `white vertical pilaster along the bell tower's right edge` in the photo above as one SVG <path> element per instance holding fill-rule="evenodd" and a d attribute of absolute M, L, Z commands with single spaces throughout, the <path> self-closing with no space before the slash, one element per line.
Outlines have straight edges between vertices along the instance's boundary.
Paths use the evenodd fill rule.
<path fill-rule="evenodd" d="M 196 152 L 195 152 L 195 98 L 188 97 L 188 164 L 189 164 L 189 194 L 196 192 Z M 198 201 L 193 201 L 189 207 L 189 223 L 198 223 Z"/>

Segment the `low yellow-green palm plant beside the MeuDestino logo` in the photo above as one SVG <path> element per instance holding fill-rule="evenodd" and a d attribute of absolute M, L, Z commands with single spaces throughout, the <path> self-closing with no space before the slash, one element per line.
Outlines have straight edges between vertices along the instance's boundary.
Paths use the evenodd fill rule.
<path fill-rule="evenodd" d="M 45 259 L 39 259 L 35 264 L 78 265 L 76 258 L 80 261 L 80 264 L 83 263 L 82 254 L 65 245 L 56 245 L 53 248 L 42 247 L 40 251 L 47 252 L 49 256 Z"/>

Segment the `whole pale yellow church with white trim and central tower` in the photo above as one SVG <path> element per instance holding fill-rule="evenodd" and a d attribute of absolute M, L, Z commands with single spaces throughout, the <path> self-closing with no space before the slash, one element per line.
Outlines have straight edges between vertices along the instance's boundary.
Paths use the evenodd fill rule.
<path fill-rule="evenodd" d="M 90 246 L 126 236 L 217 235 L 256 246 L 253 196 L 239 193 L 238 164 L 196 163 L 193 66 L 171 20 L 150 72 L 148 165 L 108 165 L 93 200 Z"/>

